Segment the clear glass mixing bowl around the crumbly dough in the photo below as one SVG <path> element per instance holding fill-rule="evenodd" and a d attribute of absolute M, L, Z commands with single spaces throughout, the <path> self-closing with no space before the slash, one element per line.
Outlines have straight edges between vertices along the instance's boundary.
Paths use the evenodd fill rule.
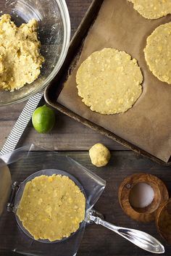
<path fill-rule="evenodd" d="M 22 102 L 45 88 L 59 71 L 70 44 L 70 16 L 64 0 L 5 0 L 1 15 L 9 14 L 17 26 L 35 18 L 45 58 L 41 75 L 20 90 L 0 91 L 0 105 Z M 22 72 L 22 70 L 21 70 Z"/>

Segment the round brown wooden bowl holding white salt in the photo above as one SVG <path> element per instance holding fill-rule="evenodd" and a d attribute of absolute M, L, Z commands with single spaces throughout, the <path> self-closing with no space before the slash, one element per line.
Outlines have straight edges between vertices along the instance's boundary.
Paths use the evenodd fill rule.
<path fill-rule="evenodd" d="M 147 207 L 135 208 L 130 205 L 130 191 L 138 183 L 147 183 L 154 190 L 154 199 Z M 156 176 L 147 173 L 135 173 L 122 181 L 118 197 L 122 210 L 130 218 L 147 223 L 155 220 L 158 208 L 169 199 L 169 194 L 164 183 Z"/>

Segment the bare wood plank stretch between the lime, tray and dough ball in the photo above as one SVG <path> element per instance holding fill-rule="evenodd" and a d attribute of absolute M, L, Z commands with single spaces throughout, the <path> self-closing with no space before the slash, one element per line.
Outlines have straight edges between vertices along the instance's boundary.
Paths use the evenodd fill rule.
<path fill-rule="evenodd" d="M 87 128 L 72 118 L 57 112 L 57 123 L 49 134 L 39 134 L 30 123 L 21 141 L 22 144 L 35 141 L 35 144 L 54 150 L 88 150 L 93 144 L 101 142 L 111 150 L 124 150 L 125 147 L 100 133 Z M 128 150 L 128 149 L 125 149 Z"/>

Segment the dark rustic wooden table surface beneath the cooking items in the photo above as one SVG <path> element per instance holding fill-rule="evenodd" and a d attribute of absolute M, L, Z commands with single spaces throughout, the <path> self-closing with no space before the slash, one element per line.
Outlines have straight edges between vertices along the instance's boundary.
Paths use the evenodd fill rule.
<path fill-rule="evenodd" d="M 67 0 L 67 6 L 70 12 L 72 35 L 83 16 L 88 9 L 91 0 Z M 3 146 L 9 132 L 12 129 L 17 117 L 20 115 L 25 102 L 13 106 L 0 108 L 0 148 Z M 75 136 L 76 135 L 76 136 Z M 123 178 L 138 172 L 151 173 L 164 181 L 167 188 L 171 187 L 171 168 L 157 165 L 151 160 L 140 157 L 134 152 L 128 151 L 125 147 L 116 142 L 107 139 L 96 131 L 77 123 L 70 117 L 64 116 L 57 112 L 57 124 L 50 134 L 38 134 L 33 129 L 31 123 L 28 125 L 20 144 L 33 142 L 38 146 L 46 147 L 59 151 L 59 154 L 69 154 L 82 165 L 89 168 L 94 173 L 107 181 L 107 187 L 101 195 L 99 202 L 96 203 L 96 209 L 104 213 L 105 218 L 112 223 L 130 228 L 139 228 L 160 239 L 165 246 L 164 255 L 171 255 L 171 247 L 167 246 L 164 240 L 157 234 L 157 228 L 154 223 L 142 224 L 130 220 L 122 212 L 117 200 L 117 192 Z M 112 151 L 112 159 L 105 168 L 96 168 L 91 165 L 88 157 L 88 149 L 95 143 L 101 142 L 109 147 Z M 49 153 L 50 154 L 50 153 Z M 41 158 L 40 152 L 40 158 Z M 1 244 L 0 237 L 0 256 L 16 255 L 7 252 L 7 246 Z M 133 246 L 122 237 L 113 234 L 101 226 L 92 225 L 86 228 L 83 241 L 80 245 L 78 256 L 143 256 L 151 255 L 138 247 Z"/>

